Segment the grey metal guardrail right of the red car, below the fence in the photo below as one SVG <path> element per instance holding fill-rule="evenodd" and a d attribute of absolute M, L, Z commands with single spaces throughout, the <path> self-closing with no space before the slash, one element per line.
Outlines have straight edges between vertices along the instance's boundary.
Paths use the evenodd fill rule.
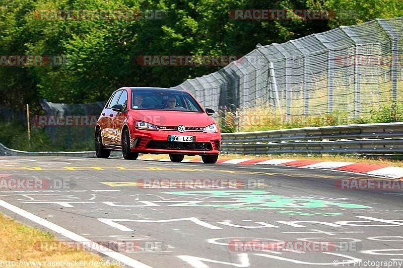
<path fill-rule="evenodd" d="M 223 133 L 221 150 L 241 154 L 403 153 L 403 123 Z"/>

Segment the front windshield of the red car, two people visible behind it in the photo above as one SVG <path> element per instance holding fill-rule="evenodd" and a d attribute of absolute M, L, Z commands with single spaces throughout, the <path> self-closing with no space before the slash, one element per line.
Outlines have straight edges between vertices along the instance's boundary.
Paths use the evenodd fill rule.
<path fill-rule="evenodd" d="M 196 101 L 181 91 L 132 90 L 131 109 L 203 112 Z"/>

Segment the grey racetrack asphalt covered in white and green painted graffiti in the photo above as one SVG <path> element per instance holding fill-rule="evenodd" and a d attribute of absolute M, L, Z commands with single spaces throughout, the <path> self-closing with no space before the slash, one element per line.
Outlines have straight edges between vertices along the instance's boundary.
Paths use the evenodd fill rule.
<path fill-rule="evenodd" d="M 0 212 L 63 241 L 119 242 L 112 254 L 98 250 L 127 266 L 403 267 L 401 188 L 341 189 L 385 178 L 270 165 L 0 157 L 0 182 L 33 178 L 46 183 L 18 190 L 0 183 Z M 175 184 L 167 188 L 163 179 Z"/>

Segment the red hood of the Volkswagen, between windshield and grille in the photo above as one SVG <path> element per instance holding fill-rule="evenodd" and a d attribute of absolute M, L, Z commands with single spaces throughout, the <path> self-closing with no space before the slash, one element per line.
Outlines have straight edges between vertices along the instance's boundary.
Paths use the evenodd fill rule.
<path fill-rule="evenodd" d="M 215 123 L 206 113 L 160 110 L 131 110 L 130 112 L 133 119 L 157 126 L 207 127 Z"/>

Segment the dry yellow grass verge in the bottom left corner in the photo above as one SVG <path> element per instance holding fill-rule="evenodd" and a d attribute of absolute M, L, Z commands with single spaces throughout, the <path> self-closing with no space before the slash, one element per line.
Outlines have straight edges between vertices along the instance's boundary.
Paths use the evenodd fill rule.
<path fill-rule="evenodd" d="M 64 261 L 74 263 L 87 263 L 81 267 L 103 267 L 113 268 L 114 265 L 91 265 L 91 263 L 100 262 L 102 258 L 89 252 L 79 251 L 77 249 L 66 250 L 38 250 L 38 243 L 44 242 L 51 244 L 56 240 L 50 233 L 42 232 L 38 229 L 24 226 L 2 214 L 0 214 L 0 260 L 16 261 Z M 91 262 L 93 261 L 93 262 Z M 61 264 L 61 263 L 60 263 Z M 66 264 L 66 263 L 64 263 Z M 17 266 L 15 265 L 15 266 Z M 0 264 L 0 266 L 2 266 Z M 10 266 L 10 265 L 5 265 Z M 48 266 L 48 265 L 45 265 Z M 45 267 L 42 265 L 42 267 Z M 28 267 L 23 265 L 23 267 Z M 30 265 L 29 267 L 40 267 Z M 57 267 L 72 267 L 67 265 L 57 265 Z"/>

